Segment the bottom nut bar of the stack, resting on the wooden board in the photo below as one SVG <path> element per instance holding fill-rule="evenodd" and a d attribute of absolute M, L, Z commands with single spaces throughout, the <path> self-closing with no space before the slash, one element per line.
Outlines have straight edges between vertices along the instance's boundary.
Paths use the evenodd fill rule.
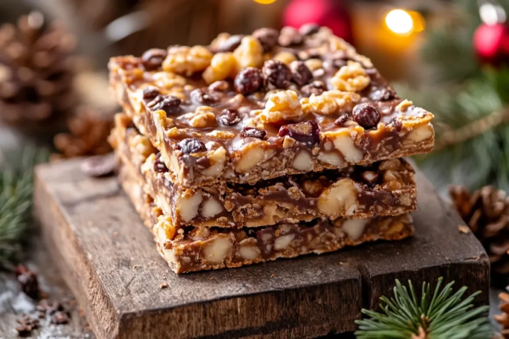
<path fill-rule="evenodd" d="M 373 219 L 314 220 L 260 228 L 185 227 L 178 231 L 135 174 L 120 165 L 120 181 L 157 249 L 176 273 L 239 267 L 253 263 L 326 253 L 374 240 L 398 240 L 413 233 L 410 214 Z"/>

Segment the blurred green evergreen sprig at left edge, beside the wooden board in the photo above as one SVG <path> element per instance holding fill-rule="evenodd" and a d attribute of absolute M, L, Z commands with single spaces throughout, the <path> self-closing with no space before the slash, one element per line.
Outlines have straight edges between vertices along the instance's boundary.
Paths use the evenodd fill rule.
<path fill-rule="evenodd" d="M 31 218 L 33 168 L 45 158 L 45 151 L 27 148 L 20 159 L 5 160 L 0 170 L 0 266 L 20 250 Z"/>

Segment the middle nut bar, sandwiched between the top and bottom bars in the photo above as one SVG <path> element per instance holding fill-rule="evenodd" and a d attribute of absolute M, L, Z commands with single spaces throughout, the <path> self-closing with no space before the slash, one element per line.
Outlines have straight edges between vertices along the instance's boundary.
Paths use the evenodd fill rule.
<path fill-rule="evenodd" d="M 119 113 L 110 142 L 174 227 L 256 227 L 316 218 L 369 218 L 416 209 L 414 170 L 405 160 L 386 160 L 341 170 L 310 172 L 246 184 L 182 188 L 148 138 Z"/>

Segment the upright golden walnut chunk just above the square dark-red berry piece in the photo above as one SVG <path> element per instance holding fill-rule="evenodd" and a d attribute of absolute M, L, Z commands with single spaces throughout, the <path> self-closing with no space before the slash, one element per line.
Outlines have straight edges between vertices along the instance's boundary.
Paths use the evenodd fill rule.
<path fill-rule="evenodd" d="M 302 115 L 297 93 L 293 90 L 281 90 L 272 94 L 265 109 L 258 115 L 262 122 L 291 120 Z"/>

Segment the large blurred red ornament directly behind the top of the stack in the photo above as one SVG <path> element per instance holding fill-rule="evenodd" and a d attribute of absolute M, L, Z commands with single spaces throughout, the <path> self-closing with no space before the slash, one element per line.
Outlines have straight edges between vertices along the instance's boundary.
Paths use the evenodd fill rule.
<path fill-rule="evenodd" d="M 282 15 L 282 24 L 299 28 L 305 23 L 329 27 L 352 42 L 352 18 L 344 0 L 292 0 Z"/>

